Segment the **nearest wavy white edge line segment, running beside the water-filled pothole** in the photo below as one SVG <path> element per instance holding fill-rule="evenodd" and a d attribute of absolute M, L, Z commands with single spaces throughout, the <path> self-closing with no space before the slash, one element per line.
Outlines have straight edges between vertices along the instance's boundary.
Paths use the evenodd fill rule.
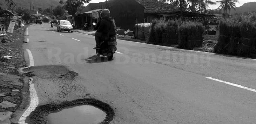
<path fill-rule="evenodd" d="M 33 83 L 33 78 L 29 79 L 29 93 L 30 93 L 30 105 L 20 117 L 18 124 L 27 124 L 25 123 L 27 116 L 29 116 L 30 113 L 35 110 L 35 108 L 38 106 L 38 103 L 39 103 L 38 95 L 36 93 L 34 83 Z"/>

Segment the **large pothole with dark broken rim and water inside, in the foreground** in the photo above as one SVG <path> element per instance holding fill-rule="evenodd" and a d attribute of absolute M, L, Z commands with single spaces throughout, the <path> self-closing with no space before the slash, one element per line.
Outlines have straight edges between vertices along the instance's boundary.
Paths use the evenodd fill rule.
<path fill-rule="evenodd" d="M 27 117 L 28 124 L 108 124 L 114 110 L 96 99 L 78 99 L 61 104 L 36 107 Z"/>

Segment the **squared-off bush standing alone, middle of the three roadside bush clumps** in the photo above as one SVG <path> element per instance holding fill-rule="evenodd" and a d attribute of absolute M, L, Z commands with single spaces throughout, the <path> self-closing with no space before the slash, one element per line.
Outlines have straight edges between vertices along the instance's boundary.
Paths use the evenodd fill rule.
<path fill-rule="evenodd" d="M 204 31 L 202 23 L 184 22 L 178 29 L 178 47 L 190 50 L 202 47 Z"/>

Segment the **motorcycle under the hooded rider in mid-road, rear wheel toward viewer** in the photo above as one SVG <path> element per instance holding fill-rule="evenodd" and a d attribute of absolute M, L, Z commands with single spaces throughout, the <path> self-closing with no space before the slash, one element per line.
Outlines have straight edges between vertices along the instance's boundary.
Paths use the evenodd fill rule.
<path fill-rule="evenodd" d="M 93 48 L 96 50 L 97 56 L 105 56 L 108 60 L 112 60 L 116 52 L 116 37 L 110 37 L 108 40 L 101 42 L 100 48 Z"/>

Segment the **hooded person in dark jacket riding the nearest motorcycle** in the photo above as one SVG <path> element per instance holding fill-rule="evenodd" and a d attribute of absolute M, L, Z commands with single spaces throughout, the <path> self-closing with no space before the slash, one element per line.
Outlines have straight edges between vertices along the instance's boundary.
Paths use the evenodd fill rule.
<path fill-rule="evenodd" d="M 116 25 L 115 20 L 110 17 L 110 11 L 108 9 L 103 9 L 100 13 L 101 20 L 96 24 L 94 30 L 96 48 L 100 48 L 100 43 L 108 40 L 110 37 L 114 37 L 116 41 Z"/>

